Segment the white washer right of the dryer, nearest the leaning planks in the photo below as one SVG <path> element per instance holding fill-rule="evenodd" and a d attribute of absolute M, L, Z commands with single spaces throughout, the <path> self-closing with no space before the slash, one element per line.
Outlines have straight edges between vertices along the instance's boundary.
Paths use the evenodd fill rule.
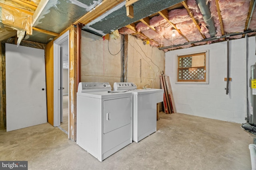
<path fill-rule="evenodd" d="M 137 89 L 132 82 L 115 82 L 114 91 L 130 90 L 133 94 L 132 140 L 139 142 L 156 132 L 156 104 L 163 101 L 163 89 Z"/>

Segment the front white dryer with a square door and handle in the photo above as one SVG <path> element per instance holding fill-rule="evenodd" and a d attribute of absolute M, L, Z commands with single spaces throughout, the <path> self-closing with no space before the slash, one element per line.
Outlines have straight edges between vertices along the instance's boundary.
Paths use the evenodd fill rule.
<path fill-rule="evenodd" d="M 132 93 L 109 83 L 80 82 L 76 143 L 99 161 L 132 143 Z"/>

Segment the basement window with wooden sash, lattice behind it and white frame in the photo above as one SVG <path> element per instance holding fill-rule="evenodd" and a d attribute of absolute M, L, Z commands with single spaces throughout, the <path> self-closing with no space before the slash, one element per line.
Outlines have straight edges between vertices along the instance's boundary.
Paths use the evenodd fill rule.
<path fill-rule="evenodd" d="M 208 51 L 177 55 L 177 82 L 208 84 Z"/>

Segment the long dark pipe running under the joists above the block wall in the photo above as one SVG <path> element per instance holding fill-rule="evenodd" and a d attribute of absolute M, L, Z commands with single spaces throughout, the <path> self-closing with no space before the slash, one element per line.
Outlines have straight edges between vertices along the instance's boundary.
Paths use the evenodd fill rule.
<path fill-rule="evenodd" d="M 162 49 L 169 49 L 169 48 L 172 48 L 172 47 L 180 47 L 180 46 L 182 46 L 182 45 L 189 45 L 189 44 L 194 44 L 194 43 L 201 43 L 201 42 L 205 42 L 205 41 L 213 41 L 213 40 L 217 40 L 217 39 L 220 39 L 220 38 L 227 38 L 227 37 L 234 36 L 234 35 L 242 35 L 242 34 L 252 33 L 252 32 L 254 32 L 254 30 L 246 30 L 246 31 L 244 31 L 243 33 L 230 33 L 230 34 L 222 35 L 222 36 L 219 36 L 219 37 L 212 37 L 212 38 L 203 39 L 203 40 L 200 40 L 200 41 L 190 41 L 190 42 L 184 43 L 184 44 L 170 45 L 170 46 L 168 46 L 168 47 L 161 47 L 161 48 L 159 48 L 159 49 L 160 49 L 160 50 L 162 50 Z"/>

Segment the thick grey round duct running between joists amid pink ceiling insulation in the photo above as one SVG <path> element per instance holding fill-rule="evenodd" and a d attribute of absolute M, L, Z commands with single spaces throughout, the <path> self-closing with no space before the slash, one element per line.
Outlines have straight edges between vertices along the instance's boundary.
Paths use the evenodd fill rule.
<path fill-rule="evenodd" d="M 214 25 L 214 20 L 211 16 L 209 3 L 206 4 L 205 0 L 196 0 L 196 2 L 203 15 L 204 22 L 209 29 L 209 34 L 211 35 L 211 37 L 214 37 L 216 35 L 216 27 Z"/>

